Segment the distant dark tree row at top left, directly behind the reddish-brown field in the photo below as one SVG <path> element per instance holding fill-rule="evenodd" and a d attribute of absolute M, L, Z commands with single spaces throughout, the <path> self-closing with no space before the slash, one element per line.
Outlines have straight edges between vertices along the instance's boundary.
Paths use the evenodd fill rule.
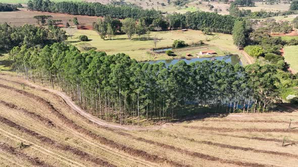
<path fill-rule="evenodd" d="M 51 2 L 44 0 L 28 1 L 28 9 L 32 11 L 65 13 L 70 15 L 110 16 L 112 18 L 160 17 L 161 12 L 154 9 L 143 10 L 132 6 L 102 5 L 100 3 L 86 2 Z"/>

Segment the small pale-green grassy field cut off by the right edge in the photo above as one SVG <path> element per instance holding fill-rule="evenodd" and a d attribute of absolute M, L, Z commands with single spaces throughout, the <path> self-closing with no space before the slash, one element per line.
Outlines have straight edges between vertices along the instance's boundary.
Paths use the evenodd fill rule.
<path fill-rule="evenodd" d="M 284 58 L 294 72 L 298 72 L 298 46 L 284 47 Z"/>

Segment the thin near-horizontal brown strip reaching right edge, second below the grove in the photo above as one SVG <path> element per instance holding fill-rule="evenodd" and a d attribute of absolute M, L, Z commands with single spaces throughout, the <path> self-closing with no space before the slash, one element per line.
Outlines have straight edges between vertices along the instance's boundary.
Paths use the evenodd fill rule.
<path fill-rule="evenodd" d="M 220 131 L 220 132 L 287 132 L 287 133 L 297 133 L 298 129 L 288 130 L 288 129 L 257 129 L 257 128 L 215 128 L 215 127 L 205 127 L 205 126 L 183 126 L 189 129 L 198 130 L 210 130 L 210 131 Z"/>

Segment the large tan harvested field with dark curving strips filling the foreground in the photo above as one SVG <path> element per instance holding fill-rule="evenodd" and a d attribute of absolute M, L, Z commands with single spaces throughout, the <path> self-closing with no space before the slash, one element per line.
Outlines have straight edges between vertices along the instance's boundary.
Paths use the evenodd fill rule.
<path fill-rule="evenodd" d="M 204 115 L 180 123 L 99 125 L 57 91 L 0 73 L 0 165 L 296 166 L 298 111 Z M 20 149 L 23 142 L 25 148 Z"/>

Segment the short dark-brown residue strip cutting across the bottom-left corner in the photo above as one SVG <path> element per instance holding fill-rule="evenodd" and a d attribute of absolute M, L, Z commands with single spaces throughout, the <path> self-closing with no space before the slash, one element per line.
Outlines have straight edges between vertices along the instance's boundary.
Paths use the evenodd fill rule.
<path fill-rule="evenodd" d="M 52 165 L 47 164 L 44 161 L 40 160 L 38 157 L 32 157 L 32 156 L 27 155 L 26 153 L 16 150 L 16 148 L 14 148 L 4 142 L 0 142 L 0 151 L 8 152 L 10 154 L 17 156 L 18 158 L 26 159 L 28 162 L 30 162 L 32 165 L 35 165 L 35 166 L 44 166 L 44 167 L 52 166 Z"/>

